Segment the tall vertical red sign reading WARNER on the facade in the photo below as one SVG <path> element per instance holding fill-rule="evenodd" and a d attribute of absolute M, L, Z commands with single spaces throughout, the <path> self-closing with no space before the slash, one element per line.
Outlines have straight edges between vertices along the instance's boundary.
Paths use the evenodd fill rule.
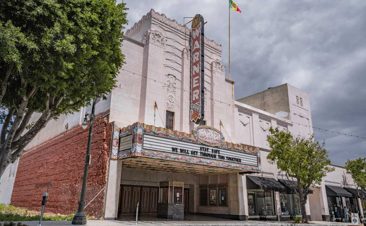
<path fill-rule="evenodd" d="M 196 14 L 191 32 L 191 103 L 190 120 L 197 123 L 204 117 L 204 35 L 203 17 Z"/>

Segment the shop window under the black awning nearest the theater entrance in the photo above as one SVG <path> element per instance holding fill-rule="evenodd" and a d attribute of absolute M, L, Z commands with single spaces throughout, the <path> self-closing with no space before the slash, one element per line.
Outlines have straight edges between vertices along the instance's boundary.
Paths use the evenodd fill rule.
<path fill-rule="evenodd" d="M 273 191 L 248 191 L 249 215 L 275 215 Z"/>

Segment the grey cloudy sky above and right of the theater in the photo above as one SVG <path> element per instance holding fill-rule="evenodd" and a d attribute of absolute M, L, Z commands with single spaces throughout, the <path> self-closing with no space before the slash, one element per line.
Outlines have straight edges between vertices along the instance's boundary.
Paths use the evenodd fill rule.
<path fill-rule="evenodd" d="M 122 2 L 122 0 L 119 0 Z M 150 8 L 183 24 L 201 14 L 205 35 L 223 46 L 227 0 L 124 0 L 130 28 Z M 231 11 L 235 98 L 289 83 L 309 93 L 313 126 L 366 137 L 366 1 L 236 0 Z M 366 156 L 366 139 L 314 129 L 332 162 Z"/>

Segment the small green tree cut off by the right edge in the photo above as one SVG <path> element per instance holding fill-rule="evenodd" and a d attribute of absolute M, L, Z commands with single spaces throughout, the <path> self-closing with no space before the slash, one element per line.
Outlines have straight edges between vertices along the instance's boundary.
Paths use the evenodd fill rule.
<path fill-rule="evenodd" d="M 351 174 L 357 189 L 357 195 L 361 197 L 361 192 L 366 190 L 366 158 L 348 159 L 346 162 L 346 172 Z M 361 192 L 359 189 L 361 189 Z"/>

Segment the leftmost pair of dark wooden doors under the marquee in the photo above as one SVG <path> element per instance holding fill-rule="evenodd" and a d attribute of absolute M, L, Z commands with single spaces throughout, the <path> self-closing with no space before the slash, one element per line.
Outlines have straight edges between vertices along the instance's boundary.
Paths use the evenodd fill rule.
<path fill-rule="evenodd" d="M 122 185 L 120 196 L 120 214 L 136 213 L 137 202 L 140 201 L 141 186 Z"/>

